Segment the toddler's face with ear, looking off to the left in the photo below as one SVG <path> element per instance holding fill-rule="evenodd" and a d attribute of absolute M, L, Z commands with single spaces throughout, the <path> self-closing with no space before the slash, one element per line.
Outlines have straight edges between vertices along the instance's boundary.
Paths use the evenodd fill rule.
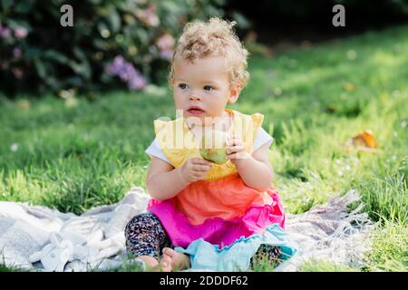
<path fill-rule="evenodd" d="M 182 110 L 185 118 L 196 117 L 206 125 L 212 123 L 208 117 L 220 117 L 228 102 L 238 100 L 239 86 L 230 86 L 221 57 L 197 59 L 194 63 L 176 59 L 173 94 L 176 109 Z"/>

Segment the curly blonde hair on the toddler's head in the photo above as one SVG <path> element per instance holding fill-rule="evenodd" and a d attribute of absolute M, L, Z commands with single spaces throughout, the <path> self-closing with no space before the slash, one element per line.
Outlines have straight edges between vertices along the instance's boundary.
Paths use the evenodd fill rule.
<path fill-rule="evenodd" d="M 243 89 L 249 81 L 247 72 L 248 51 L 240 43 L 233 27 L 235 21 L 228 22 L 212 17 L 207 23 L 193 22 L 185 25 L 171 60 L 168 77 L 170 87 L 174 78 L 174 62 L 177 58 L 189 60 L 221 56 L 228 63 L 229 84 L 238 83 Z"/>

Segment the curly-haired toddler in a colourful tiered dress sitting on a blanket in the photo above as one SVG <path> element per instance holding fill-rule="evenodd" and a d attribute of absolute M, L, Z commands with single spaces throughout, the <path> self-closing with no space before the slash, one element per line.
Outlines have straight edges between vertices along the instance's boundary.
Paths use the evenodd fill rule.
<path fill-rule="evenodd" d="M 128 252 L 151 269 L 246 270 L 263 256 L 273 263 L 293 253 L 272 185 L 264 116 L 226 109 L 249 78 L 234 24 L 187 24 L 173 55 L 169 82 L 180 116 L 154 121 L 156 138 L 146 150 L 152 199 L 125 228 Z M 210 130 L 227 133 L 224 164 L 200 157 L 199 140 Z"/>

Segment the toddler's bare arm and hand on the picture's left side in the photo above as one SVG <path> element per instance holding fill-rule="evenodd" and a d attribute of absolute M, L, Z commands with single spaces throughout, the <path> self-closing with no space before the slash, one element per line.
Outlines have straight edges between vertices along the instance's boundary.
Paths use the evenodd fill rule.
<path fill-rule="evenodd" d="M 151 198 L 172 198 L 190 182 L 204 179 L 210 167 L 209 161 L 192 158 L 175 169 L 169 163 L 153 157 L 146 177 L 146 187 Z"/>

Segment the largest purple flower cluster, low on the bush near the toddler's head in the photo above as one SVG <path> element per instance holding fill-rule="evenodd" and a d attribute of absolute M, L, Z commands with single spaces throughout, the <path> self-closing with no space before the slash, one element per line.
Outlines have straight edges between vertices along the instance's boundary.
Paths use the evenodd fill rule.
<path fill-rule="evenodd" d="M 128 83 L 131 90 L 138 90 L 146 86 L 146 80 L 141 73 L 134 68 L 133 64 L 126 62 L 121 55 L 116 56 L 105 71 L 110 75 L 119 76 L 121 81 Z"/>

